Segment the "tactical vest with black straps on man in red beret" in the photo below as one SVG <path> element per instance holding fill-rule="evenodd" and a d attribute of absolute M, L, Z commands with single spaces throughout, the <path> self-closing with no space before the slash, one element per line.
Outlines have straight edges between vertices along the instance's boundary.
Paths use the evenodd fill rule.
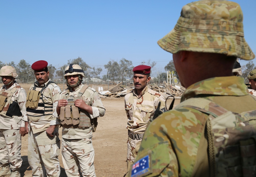
<path fill-rule="evenodd" d="M 30 118 L 32 121 L 37 121 L 41 116 L 49 116 L 52 115 L 52 103 L 44 103 L 43 100 L 43 92 L 45 88 L 54 83 L 52 81 L 48 82 L 47 85 L 42 87 L 41 91 L 36 91 L 37 86 L 34 86 L 32 90 L 28 91 L 27 99 L 26 99 L 26 107 L 27 107 L 27 115 L 34 117 Z"/>

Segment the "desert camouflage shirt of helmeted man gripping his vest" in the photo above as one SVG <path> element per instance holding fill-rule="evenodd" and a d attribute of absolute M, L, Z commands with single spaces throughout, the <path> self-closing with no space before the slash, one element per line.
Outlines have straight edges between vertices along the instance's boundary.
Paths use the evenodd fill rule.
<path fill-rule="evenodd" d="M 69 95 L 77 96 L 81 88 L 83 87 L 83 84 L 80 84 L 79 86 L 75 87 L 75 91 L 72 91 L 72 88 L 68 87 L 69 89 Z M 60 93 L 59 99 L 63 99 L 65 96 L 66 90 L 62 91 Z M 90 105 L 92 107 L 92 115 L 90 114 L 90 118 L 97 118 L 102 117 L 105 114 L 105 108 L 101 102 L 101 99 L 97 92 L 92 88 L 88 87 L 86 91 L 82 95 L 85 98 L 85 102 L 87 105 Z M 59 117 L 57 112 L 54 112 L 56 117 Z M 92 128 L 66 128 L 65 125 L 62 128 L 62 138 L 66 139 L 83 139 L 83 138 L 91 138 L 92 137 Z"/>

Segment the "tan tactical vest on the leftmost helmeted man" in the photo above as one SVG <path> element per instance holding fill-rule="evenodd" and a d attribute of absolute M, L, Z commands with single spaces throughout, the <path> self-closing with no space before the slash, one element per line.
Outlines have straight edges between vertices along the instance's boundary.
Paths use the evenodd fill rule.
<path fill-rule="evenodd" d="M 12 115 L 6 114 L 9 109 L 9 106 L 13 103 L 12 96 L 17 90 L 21 88 L 21 86 L 17 85 L 9 90 L 1 91 L 0 92 L 0 114 L 9 118 L 13 118 Z"/>

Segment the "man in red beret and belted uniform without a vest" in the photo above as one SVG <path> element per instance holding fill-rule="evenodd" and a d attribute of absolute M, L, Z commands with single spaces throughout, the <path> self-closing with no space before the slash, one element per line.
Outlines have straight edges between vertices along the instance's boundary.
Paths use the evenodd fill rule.
<path fill-rule="evenodd" d="M 150 66 L 139 65 L 133 68 L 134 89 L 124 97 L 125 111 L 128 118 L 126 128 L 127 139 L 127 170 L 129 171 L 140 148 L 142 137 L 150 116 L 153 116 L 158 103 L 160 109 L 165 109 L 165 98 L 151 90 L 147 83 L 150 81 Z"/>

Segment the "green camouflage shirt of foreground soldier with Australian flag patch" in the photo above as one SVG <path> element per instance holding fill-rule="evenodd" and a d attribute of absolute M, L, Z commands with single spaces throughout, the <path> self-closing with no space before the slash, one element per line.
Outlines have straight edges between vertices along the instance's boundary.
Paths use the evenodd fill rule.
<path fill-rule="evenodd" d="M 190 85 L 181 102 L 204 97 L 232 112 L 256 110 L 256 101 L 243 82 L 236 76 L 206 79 Z M 210 176 L 205 135 L 208 115 L 177 107 L 147 127 L 127 176 L 178 176 L 178 170 L 181 176 Z"/>

